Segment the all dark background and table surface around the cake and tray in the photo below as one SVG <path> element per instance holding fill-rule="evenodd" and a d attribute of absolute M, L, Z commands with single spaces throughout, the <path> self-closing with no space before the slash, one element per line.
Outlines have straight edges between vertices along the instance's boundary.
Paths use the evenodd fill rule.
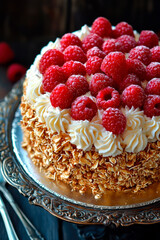
<path fill-rule="evenodd" d="M 50 40 L 54 41 L 66 32 L 78 30 L 84 24 L 90 26 L 98 16 L 108 18 L 112 25 L 127 21 L 139 32 L 143 29 L 154 30 L 160 36 L 160 0 L 0 0 L 0 42 L 9 43 L 14 50 L 13 62 L 28 68 Z M 0 66 L 0 98 L 13 86 L 6 77 L 8 66 L 9 64 Z M 46 240 L 78 240 L 78 232 L 88 236 L 88 240 L 99 239 L 91 238 L 91 233 L 93 230 L 99 233 L 104 231 L 98 226 L 77 228 L 75 224 L 61 221 L 47 211 L 30 205 L 16 189 L 11 186 L 8 188 Z M 27 240 L 28 237 L 9 204 L 7 209 L 19 239 Z M 143 240 L 148 237 L 158 240 L 159 229 L 160 224 L 107 227 L 101 239 Z M 1 217 L 0 240 L 7 240 Z"/>

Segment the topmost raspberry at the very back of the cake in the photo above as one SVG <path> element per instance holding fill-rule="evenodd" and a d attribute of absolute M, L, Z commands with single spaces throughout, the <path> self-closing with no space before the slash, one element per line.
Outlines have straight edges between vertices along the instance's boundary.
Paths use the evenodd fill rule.
<path fill-rule="evenodd" d="M 110 37 L 112 34 L 112 26 L 108 19 L 104 17 L 97 18 L 92 24 L 92 33 L 96 33 L 100 37 Z"/>

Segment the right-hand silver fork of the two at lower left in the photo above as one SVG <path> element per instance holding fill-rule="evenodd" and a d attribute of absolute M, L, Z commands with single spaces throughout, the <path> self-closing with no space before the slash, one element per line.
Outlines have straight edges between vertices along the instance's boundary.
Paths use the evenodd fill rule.
<path fill-rule="evenodd" d="M 31 240 L 44 240 L 44 238 L 41 236 L 41 234 L 37 231 L 37 229 L 33 226 L 33 224 L 29 221 L 29 219 L 25 216 L 25 214 L 19 208 L 17 203 L 14 201 L 11 193 L 5 187 L 5 184 L 6 184 L 6 181 L 2 175 L 2 163 L 0 162 L 0 191 L 3 193 L 4 197 L 10 203 L 10 205 L 14 209 L 15 213 L 21 220 L 29 238 Z"/>

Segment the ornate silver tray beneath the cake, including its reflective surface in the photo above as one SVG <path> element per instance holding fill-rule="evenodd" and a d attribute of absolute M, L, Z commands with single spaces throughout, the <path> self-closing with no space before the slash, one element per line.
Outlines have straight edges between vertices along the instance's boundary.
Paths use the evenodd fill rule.
<path fill-rule="evenodd" d="M 0 160 L 9 184 L 51 214 L 80 224 L 115 224 L 160 222 L 160 183 L 140 193 L 107 191 L 100 200 L 91 193 L 80 195 L 61 182 L 48 180 L 39 172 L 21 147 L 23 134 L 19 110 L 23 81 L 0 102 Z"/>

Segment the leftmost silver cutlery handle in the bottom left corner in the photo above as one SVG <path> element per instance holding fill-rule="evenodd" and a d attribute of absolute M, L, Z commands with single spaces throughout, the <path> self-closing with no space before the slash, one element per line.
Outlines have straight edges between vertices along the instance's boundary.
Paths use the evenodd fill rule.
<path fill-rule="evenodd" d="M 5 204 L 1 197 L 0 197 L 0 213 L 1 213 L 4 225 L 6 227 L 6 231 L 7 231 L 9 240 L 19 240 L 19 238 L 17 237 L 17 234 L 14 230 L 14 227 L 12 225 L 11 219 L 8 215 Z"/>

